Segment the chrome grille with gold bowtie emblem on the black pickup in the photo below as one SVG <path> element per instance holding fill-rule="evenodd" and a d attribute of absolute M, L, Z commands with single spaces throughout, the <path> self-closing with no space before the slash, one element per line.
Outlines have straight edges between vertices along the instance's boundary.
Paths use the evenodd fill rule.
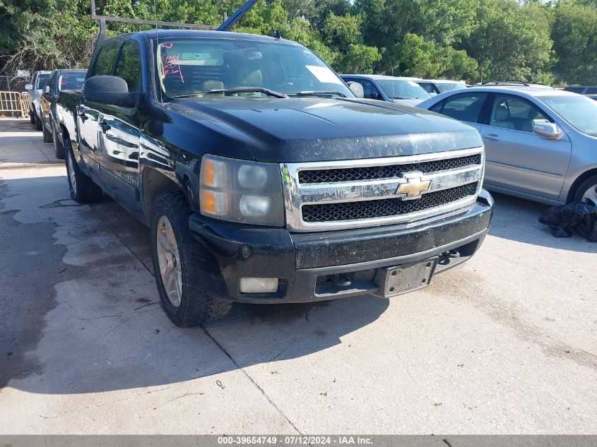
<path fill-rule="evenodd" d="M 483 148 L 336 162 L 285 163 L 286 224 L 297 232 L 412 222 L 473 203 Z"/>

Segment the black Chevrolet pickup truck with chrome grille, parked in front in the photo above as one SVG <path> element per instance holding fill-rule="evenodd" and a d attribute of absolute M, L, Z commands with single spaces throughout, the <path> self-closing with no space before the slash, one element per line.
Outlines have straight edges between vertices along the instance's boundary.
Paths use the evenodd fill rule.
<path fill-rule="evenodd" d="M 58 106 L 71 195 L 103 190 L 149 225 L 179 326 L 232 302 L 418 289 L 483 242 L 483 143 L 458 121 L 351 88 L 276 37 L 104 40 L 82 94 Z"/>

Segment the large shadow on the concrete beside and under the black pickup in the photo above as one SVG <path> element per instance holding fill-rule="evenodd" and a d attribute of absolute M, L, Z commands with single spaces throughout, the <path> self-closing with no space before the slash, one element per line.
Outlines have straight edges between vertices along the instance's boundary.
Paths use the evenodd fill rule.
<path fill-rule="evenodd" d="M 70 201 L 64 177 L 3 183 L 0 324 L 13 330 L 0 339 L 0 386 L 74 394 L 168 386 L 254 365 L 275 374 L 271 362 L 341 344 L 389 304 L 371 296 L 236 304 L 204 328 L 177 328 L 143 265 L 146 227 L 108 198 Z"/>

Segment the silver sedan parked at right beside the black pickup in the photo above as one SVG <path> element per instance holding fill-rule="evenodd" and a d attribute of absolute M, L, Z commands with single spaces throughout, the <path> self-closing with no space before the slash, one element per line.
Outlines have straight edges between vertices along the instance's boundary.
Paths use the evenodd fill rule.
<path fill-rule="evenodd" d="M 597 205 L 597 102 L 541 85 L 494 84 L 418 105 L 466 122 L 485 142 L 490 191 Z"/>

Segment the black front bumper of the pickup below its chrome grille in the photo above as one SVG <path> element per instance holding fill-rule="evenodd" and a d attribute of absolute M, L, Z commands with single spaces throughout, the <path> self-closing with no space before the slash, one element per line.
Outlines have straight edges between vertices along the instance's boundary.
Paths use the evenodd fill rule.
<path fill-rule="evenodd" d="M 314 302 L 380 294 L 374 282 L 378 268 L 434 256 L 439 256 L 435 273 L 454 267 L 477 251 L 492 214 L 493 200 L 482 190 L 473 205 L 413 224 L 290 233 L 193 214 L 189 230 L 200 244 L 207 294 L 238 302 Z M 240 278 L 279 278 L 278 291 L 243 294 Z"/>

